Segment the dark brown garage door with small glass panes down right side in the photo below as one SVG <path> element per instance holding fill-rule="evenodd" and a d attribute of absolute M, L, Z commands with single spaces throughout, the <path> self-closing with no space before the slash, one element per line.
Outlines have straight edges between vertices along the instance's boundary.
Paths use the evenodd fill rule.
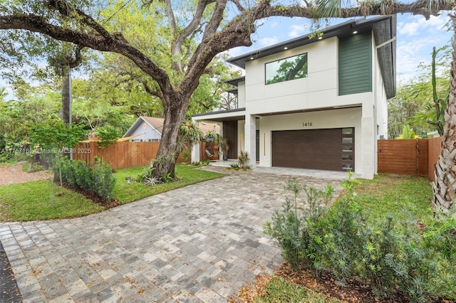
<path fill-rule="evenodd" d="M 272 132 L 272 166 L 300 169 L 355 169 L 353 128 Z"/>

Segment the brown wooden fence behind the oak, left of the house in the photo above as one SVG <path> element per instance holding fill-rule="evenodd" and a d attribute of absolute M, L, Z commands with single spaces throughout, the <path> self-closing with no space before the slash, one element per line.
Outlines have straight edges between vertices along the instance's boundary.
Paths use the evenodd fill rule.
<path fill-rule="evenodd" d="M 110 147 L 100 149 L 97 142 L 80 142 L 73 149 L 73 159 L 86 163 L 93 162 L 95 156 L 103 158 L 113 169 L 125 169 L 132 166 L 145 166 L 157 156 L 160 142 L 116 142 Z M 182 156 L 177 162 L 183 162 Z"/>

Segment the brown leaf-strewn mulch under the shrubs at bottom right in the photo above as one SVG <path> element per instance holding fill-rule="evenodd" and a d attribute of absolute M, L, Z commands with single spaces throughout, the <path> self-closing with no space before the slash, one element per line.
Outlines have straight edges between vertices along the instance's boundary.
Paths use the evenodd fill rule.
<path fill-rule="evenodd" d="M 328 297 L 333 299 L 339 299 L 341 302 L 348 303 L 371 303 L 371 302 L 410 302 L 407 296 L 398 292 L 390 299 L 380 300 L 375 299 L 371 288 L 367 285 L 363 285 L 356 280 L 350 280 L 346 283 L 345 287 L 337 285 L 336 280 L 332 275 L 320 275 L 315 277 L 310 271 L 301 270 L 294 271 L 287 264 L 282 265 L 274 275 L 284 277 L 286 280 L 293 282 L 296 285 L 312 289 L 315 292 L 326 294 Z M 231 297 L 229 302 L 254 302 L 256 297 L 261 296 L 266 283 L 269 282 L 271 277 L 269 275 L 258 275 L 257 280 L 252 282 L 250 285 L 244 286 L 239 289 L 239 293 L 236 297 Z M 437 303 L 455 303 L 453 301 L 445 300 L 442 298 L 434 298 L 432 302 Z"/>

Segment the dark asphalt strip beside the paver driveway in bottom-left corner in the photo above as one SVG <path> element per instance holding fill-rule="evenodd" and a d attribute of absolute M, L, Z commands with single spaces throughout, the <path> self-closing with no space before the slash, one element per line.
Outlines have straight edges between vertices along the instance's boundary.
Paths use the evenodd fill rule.
<path fill-rule="evenodd" d="M 22 302 L 21 292 L 17 287 L 13 270 L 0 241 L 0 302 Z"/>

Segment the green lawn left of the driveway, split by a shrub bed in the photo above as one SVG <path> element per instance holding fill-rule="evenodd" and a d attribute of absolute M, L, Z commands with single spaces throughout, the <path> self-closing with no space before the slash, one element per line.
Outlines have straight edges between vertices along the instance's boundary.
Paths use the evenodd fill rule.
<path fill-rule="evenodd" d="M 219 178 L 223 174 L 195 169 L 195 166 L 177 165 L 178 181 L 155 186 L 136 182 L 127 184 L 126 176 L 138 176 L 142 167 L 119 169 L 114 176 L 114 197 L 122 204 L 136 201 L 171 189 Z M 80 193 L 56 186 L 52 181 L 40 180 L 21 184 L 0 186 L 0 220 L 28 221 L 58 218 L 76 218 L 103 211 L 103 207 L 85 198 Z"/>

